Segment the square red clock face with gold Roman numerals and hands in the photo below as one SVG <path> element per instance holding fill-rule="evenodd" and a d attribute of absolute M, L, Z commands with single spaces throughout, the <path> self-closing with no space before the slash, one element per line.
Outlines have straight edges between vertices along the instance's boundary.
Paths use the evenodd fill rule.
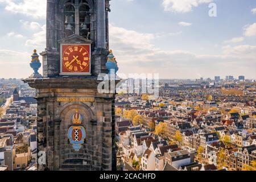
<path fill-rule="evenodd" d="M 62 73 L 90 73 L 90 46 L 63 45 Z"/>

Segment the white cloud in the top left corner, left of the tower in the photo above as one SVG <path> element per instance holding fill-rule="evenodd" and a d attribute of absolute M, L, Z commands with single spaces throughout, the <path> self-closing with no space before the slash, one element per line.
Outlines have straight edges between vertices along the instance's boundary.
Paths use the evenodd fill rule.
<path fill-rule="evenodd" d="M 23 14 L 32 18 L 46 18 L 46 1 L 43 0 L 0 0 L 6 4 L 5 10 L 15 14 Z"/>

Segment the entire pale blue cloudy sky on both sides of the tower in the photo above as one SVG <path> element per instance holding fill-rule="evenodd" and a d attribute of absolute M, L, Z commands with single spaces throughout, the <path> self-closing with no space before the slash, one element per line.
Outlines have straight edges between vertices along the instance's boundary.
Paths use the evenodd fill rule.
<path fill-rule="evenodd" d="M 111 9 L 119 73 L 256 78 L 255 0 L 112 0 Z M 46 44 L 46 0 L 0 0 L 0 17 L 0 77 L 28 77 L 33 49 Z"/>

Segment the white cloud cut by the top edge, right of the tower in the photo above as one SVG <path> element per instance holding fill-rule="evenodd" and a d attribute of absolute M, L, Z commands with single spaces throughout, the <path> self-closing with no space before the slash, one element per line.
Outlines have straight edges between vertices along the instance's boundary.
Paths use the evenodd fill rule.
<path fill-rule="evenodd" d="M 163 0 L 165 11 L 173 11 L 176 13 L 187 13 L 192 11 L 193 7 L 199 6 L 201 3 L 209 3 L 212 0 Z"/>

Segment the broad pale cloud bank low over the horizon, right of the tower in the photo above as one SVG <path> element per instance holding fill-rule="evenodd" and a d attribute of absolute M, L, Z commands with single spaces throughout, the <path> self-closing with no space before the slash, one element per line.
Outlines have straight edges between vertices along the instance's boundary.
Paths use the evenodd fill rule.
<path fill-rule="evenodd" d="M 110 48 L 119 65 L 119 73 L 159 73 L 162 78 L 197 78 L 198 74 L 214 76 L 239 74 L 255 77 L 256 46 L 226 46 L 217 55 L 203 55 L 185 50 L 163 50 L 155 46 L 158 36 L 142 34 L 110 25 Z M 242 73 L 241 73 L 242 74 Z"/>

